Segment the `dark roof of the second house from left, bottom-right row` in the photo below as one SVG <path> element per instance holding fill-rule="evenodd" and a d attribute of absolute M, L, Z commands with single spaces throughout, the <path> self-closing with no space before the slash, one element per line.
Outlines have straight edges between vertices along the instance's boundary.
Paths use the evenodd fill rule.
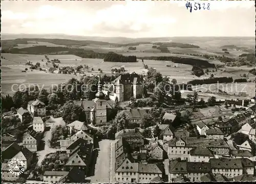
<path fill-rule="evenodd" d="M 187 172 L 210 172 L 211 168 L 210 168 L 210 163 L 207 162 L 188 162 L 187 163 Z"/>

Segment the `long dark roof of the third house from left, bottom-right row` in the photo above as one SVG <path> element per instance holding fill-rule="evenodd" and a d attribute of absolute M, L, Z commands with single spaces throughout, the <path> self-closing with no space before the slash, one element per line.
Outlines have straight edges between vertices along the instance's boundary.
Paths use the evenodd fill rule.
<path fill-rule="evenodd" d="M 220 159 L 210 159 L 212 169 L 242 169 L 242 162 L 240 159 L 227 159 L 221 157 Z"/>

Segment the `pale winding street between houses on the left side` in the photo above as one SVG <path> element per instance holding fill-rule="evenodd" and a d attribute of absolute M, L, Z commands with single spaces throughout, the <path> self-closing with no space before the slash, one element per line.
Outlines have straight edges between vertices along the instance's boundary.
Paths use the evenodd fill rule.
<path fill-rule="evenodd" d="M 57 150 L 55 148 L 50 147 L 50 142 L 48 140 L 51 140 L 52 138 L 52 130 L 57 125 L 65 125 L 65 122 L 62 120 L 62 118 L 53 118 L 51 117 L 49 120 L 46 121 L 47 127 L 50 127 L 50 130 L 45 132 L 44 138 L 42 138 L 43 141 L 45 141 L 45 149 L 37 151 L 36 154 L 38 156 L 38 166 L 41 166 L 42 160 L 45 159 L 45 156 L 49 153 L 54 153 Z"/>

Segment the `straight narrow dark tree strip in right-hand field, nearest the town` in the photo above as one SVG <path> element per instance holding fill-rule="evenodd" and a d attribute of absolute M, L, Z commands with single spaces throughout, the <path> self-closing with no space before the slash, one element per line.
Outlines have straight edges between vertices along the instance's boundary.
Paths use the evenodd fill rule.
<path fill-rule="evenodd" d="M 202 80 L 196 79 L 193 81 L 187 82 L 187 84 L 190 85 L 202 85 L 202 84 L 215 84 L 215 83 L 232 83 L 233 78 L 232 77 L 215 77 L 215 78 L 205 78 Z"/>

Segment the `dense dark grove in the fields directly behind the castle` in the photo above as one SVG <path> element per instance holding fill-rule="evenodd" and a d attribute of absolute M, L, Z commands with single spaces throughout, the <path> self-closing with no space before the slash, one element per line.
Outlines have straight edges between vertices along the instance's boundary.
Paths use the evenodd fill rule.
<path fill-rule="evenodd" d="M 109 52 L 104 56 L 105 62 L 137 62 L 136 56 L 123 56 L 115 52 Z"/>

